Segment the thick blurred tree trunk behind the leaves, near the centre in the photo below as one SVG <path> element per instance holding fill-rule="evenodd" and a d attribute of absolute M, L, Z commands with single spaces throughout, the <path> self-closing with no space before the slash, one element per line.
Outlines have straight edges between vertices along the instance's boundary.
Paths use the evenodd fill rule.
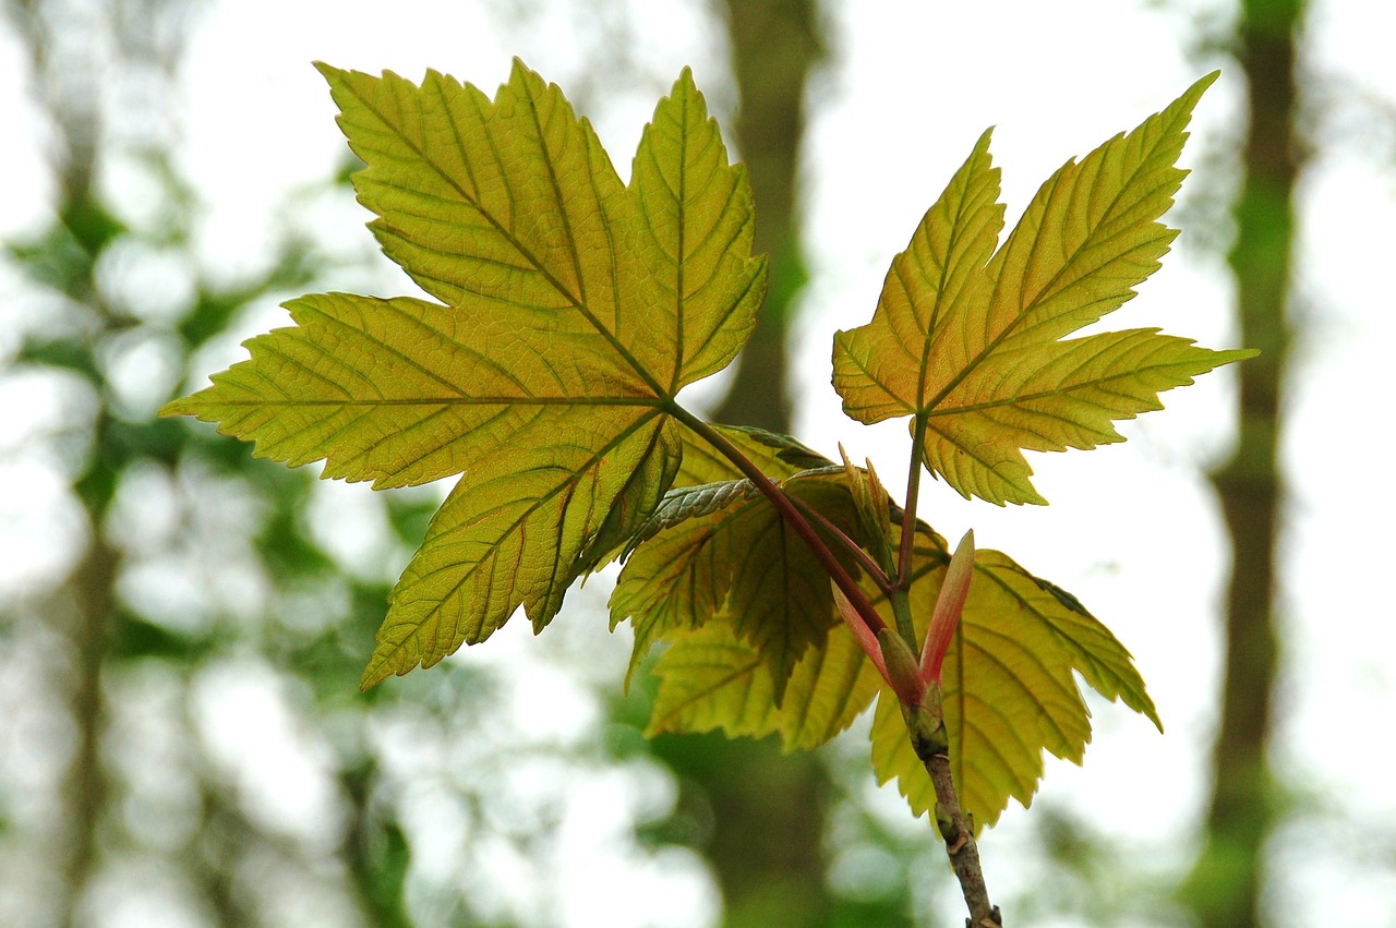
<path fill-rule="evenodd" d="M 804 88 L 819 59 L 812 0 L 727 0 L 727 33 L 740 93 L 736 142 L 755 198 L 755 251 L 771 283 L 755 332 L 737 359 L 716 421 L 790 431 L 786 335 L 804 283 L 796 176 Z M 658 751 L 695 781 L 712 811 L 708 858 L 726 925 L 817 925 L 829 920 L 824 822 L 829 784 L 810 754 L 782 755 L 773 740 L 662 740 Z"/>

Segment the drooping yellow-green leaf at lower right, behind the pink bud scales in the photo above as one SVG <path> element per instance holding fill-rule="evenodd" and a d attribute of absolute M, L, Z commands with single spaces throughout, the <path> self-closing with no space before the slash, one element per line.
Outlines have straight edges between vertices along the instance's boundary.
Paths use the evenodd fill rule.
<path fill-rule="evenodd" d="M 949 554 L 917 541 L 912 601 L 924 636 Z M 1129 652 L 1069 593 L 998 551 L 977 551 L 974 578 L 942 667 L 945 726 L 960 804 L 980 826 L 998 821 L 1009 798 L 1032 802 L 1043 751 L 1081 763 L 1090 712 L 1074 674 L 1120 699 L 1161 731 Z M 878 781 L 895 779 L 916 815 L 935 804 L 926 768 L 912 751 L 895 694 L 884 685 L 872 720 Z"/>

